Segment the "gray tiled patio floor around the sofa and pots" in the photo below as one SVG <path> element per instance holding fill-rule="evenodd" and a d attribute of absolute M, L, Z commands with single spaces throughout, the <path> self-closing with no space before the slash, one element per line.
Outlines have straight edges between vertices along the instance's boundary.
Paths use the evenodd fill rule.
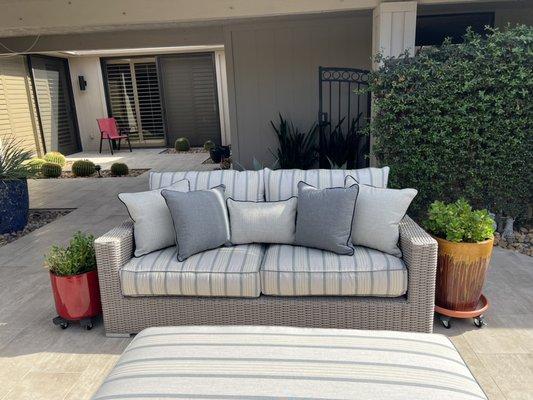
<path fill-rule="evenodd" d="M 121 151 L 131 168 L 210 169 L 205 154 Z M 102 166 L 109 155 L 76 154 Z M 98 161 L 95 159 L 99 158 Z M 105 158 L 105 160 L 104 160 Z M 105 166 L 104 166 L 105 168 Z M 107 338 L 101 321 L 92 331 L 61 330 L 55 316 L 43 255 L 73 232 L 100 235 L 124 220 L 116 195 L 147 190 L 148 174 L 135 178 L 33 180 L 32 208 L 76 208 L 70 214 L 0 248 L 0 400 L 88 399 L 130 339 Z M 485 293 L 488 326 L 453 321 L 445 330 L 490 399 L 533 399 L 533 258 L 496 248 Z"/>

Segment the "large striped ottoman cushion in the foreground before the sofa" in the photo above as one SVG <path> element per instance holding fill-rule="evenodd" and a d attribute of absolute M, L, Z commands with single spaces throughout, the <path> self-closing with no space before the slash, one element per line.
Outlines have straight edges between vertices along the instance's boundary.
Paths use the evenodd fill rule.
<path fill-rule="evenodd" d="M 442 335 L 254 326 L 146 329 L 93 397 L 287 398 L 487 399 Z"/>

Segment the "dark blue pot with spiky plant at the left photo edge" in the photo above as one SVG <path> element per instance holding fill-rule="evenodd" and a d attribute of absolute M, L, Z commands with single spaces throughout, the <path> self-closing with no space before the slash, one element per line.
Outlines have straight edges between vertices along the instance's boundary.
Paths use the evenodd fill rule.
<path fill-rule="evenodd" d="M 35 175 L 31 157 L 13 137 L 0 137 L 0 234 L 20 231 L 28 223 L 27 179 Z"/>

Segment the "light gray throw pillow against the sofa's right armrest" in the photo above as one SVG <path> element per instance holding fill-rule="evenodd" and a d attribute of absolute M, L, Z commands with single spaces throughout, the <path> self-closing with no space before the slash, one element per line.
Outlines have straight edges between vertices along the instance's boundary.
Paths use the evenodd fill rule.
<path fill-rule="evenodd" d="M 347 176 L 345 186 L 357 181 Z M 417 194 L 416 189 L 383 189 L 359 185 L 352 228 L 352 243 L 401 257 L 400 221 Z"/>

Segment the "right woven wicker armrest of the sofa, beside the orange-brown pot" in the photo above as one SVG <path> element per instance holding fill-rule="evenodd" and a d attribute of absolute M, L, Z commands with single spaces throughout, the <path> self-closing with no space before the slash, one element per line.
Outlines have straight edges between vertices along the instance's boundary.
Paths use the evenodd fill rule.
<path fill-rule="evenodd" d="M 400 247 L 409 270 L 408 301 L 430 304 L 433 310 L 437 241 L 406 215 L 400 222 Z"/>

